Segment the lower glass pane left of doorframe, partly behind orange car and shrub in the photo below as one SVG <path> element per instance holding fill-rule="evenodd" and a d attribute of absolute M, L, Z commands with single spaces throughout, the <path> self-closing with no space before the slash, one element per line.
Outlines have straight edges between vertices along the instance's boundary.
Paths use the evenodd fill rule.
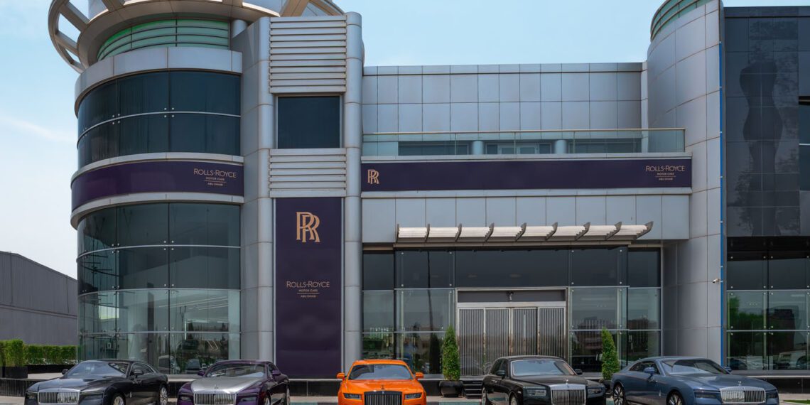
<path fill-rule="evenodd" d="M 414 373 L 441 374 L 443 333 L 398 333 L 397 353 Z"/>

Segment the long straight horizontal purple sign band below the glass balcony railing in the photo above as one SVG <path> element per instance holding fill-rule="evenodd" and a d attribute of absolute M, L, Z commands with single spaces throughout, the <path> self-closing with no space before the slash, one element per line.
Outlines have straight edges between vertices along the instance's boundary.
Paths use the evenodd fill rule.
<path fill-rule="evenodd" d="M 363 191 L 691 187 L 692 160 L 364 163 Z"/>

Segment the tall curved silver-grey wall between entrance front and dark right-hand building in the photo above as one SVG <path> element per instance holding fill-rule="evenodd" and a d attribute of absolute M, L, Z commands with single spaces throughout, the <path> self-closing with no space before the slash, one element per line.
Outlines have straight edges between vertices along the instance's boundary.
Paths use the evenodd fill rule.
<path fill-rule="evenodd" d="M 650 127 L 684 127 L 692 154 L 689 241 L 664 249 L 663 353 L 720 360 L 720 20 L 714 0 L 654 38 L 647 58 Z"/>

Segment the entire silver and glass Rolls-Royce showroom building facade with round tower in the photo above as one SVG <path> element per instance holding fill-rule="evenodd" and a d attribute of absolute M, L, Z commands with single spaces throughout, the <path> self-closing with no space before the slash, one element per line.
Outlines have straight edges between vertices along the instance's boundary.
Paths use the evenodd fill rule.
<path fill-rule="evenodd" d="M 669 0 L 643 62 L 364 66 L 327 0 L 54 0 L 80 356 L 439 374 L 454 326 L 464 375 L 597 371 L 606 328 L 805 369 L 808 13 Z"/>

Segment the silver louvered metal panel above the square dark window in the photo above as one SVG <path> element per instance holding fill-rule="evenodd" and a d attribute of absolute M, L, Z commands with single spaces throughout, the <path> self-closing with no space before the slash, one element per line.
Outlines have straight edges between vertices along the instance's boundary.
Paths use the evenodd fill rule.
<path fill-rule="evenodd" d="M 346 17 L 273 18 L 270 92 L 346 92 Z"/>

